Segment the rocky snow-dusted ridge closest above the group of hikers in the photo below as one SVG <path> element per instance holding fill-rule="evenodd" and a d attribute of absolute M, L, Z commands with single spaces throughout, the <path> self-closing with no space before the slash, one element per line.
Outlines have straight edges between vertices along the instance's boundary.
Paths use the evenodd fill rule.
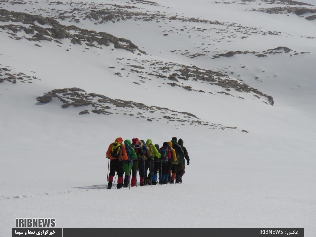
<path fill-rule="evenodd" d="M 111 99 L 104 95 L 86 93 L 86 91 L 80 88 L 64 88 L 54 89 L 43 96 L 37 98 L 41 103 L 48 103 L 52 100 L 52 97 L 58 98 L 64 104 L 62 108 L 68 108 L 69 106 L 92 106 L 94 107 L 91 112 L 105 115 L 123 114 L 129 116 L 135 116 L 137 119 L 151 121 L 167 122 L 171 126 L 177 125 L 203 125 L 209 129 L 220 128 L 224 129 L 237 129 L 237 127 L 228 127 L 220 124 L 214 124 L 201 121 L 197 116 L 189 112 L 178 112 L 176 110 L 170 110 L 168 108 L 161 108 L 158 106 L 147 106 L 143 103 L 137 103 L 133 101 Z M 111 107 L 115 106 L 115 107 Z M 81 114 L 89 114 L 89 110 L 79 112 Z"/>

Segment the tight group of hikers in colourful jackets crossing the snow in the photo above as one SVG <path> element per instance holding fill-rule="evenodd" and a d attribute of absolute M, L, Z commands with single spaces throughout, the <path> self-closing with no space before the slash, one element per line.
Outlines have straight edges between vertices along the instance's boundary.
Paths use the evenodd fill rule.
<path fill-rule="evenodd" d="M 132 142 L 127 139 L 123 144 L 123 139 L 118 137 L 109 145 L 106 157 L 109 159 L 108 171 L 110 167 L 107 189 L 112 188 L 115 172 L 118 176 L 117 188 L 129 187 L 130 180 L 132 187 L 137 186 L 137 173 L 140 186 L 156 185 L 157 182 L 161 185 L 182 183 L 185 160 L 187 165 L 190 164 L 183 140 L 178 141 L 177 137 L 172 137 L 170 142 L 164 142 L 160 148 L 158 144 L 154 145 L 151 139 L 146 143 L 138 138 L 133 138 Z"/>

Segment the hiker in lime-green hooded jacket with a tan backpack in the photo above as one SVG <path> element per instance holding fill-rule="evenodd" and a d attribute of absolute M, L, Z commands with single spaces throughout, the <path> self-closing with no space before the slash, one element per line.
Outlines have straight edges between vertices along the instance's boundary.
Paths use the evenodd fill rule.
<path fill-rule="evenodd" d="M 154 160 L 153 160 L 153 158 L 155 156 L 160 158 L 161 155 L 158 152 L 155 145 L 153 144 L 153 142 L 151 141 L 151 139 L 147 139 L 146 148 L 147 148 L 147 154 L 145 156 L 145 177 L 147 177 L 147 169 L 149 169 L 149 175 L 146 178 L 146 181 L 149 185 L 151 185 L 152 178 L 154 177 Z M 157 181 L 157 179 L 156 179 L 156 181 Z"/>

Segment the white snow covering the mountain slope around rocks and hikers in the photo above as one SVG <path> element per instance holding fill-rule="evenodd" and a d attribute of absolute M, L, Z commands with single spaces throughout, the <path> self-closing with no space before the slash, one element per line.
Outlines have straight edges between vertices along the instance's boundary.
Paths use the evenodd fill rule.
<path fill-rule="evenodd" d="M 88 19 L 80 19 L 79 23 L 57 19 L 64 25 L 129 39 L 147 52 L 137 55 L 137 51 L 116 49 L 113 44 L 85 49 L 86 46 L 73 45 L 67 39 L 60 40 L 62 45 L 46 40 L 14 40 L 0 28 L 0 68 L 40 79 L 32 80 L 33 83 L 0 83 L 0 236 L 10 236 L 15 218 L 29 217 L 55 218 L 56 227 L 65 228 L 300 227 L 305 228 L 306 236 L 315 236 L 316 39 L 306 36 L 316 37 L 316 20 L 307 21 L 292 13 L 252 11 L 284 6 L 259 0 L 246 4 L 239 0 L 155 2 L 158 4 L 93 1 L 133 5 L 139 7 L 131 9 L 136 12 L 159 11 L 168 16 L 257 27 L 252 32 L 281 33 L 245 34 L 238 27 L 180 20 L 94 24 Z M 305 2 L 315 4 L 312 0 Z M 0 9 L 32 11 L 31 14 L 43 16 L 50 16 L 50 11 L 43 9 L 53 7 L 68 9 L 68 5 L 48 5 L 46 1 L 0 5 Z M 0 25 L 7 24 L 0 21 Z M 190 31 L 180 31 L 184 26 Z M 208 30 L 201 32 L 193 27 Z M 231 33 L 217 31 L 226 27 Z M 168 35 L 163 36 L 164 33 Z M 16 34 L 25 35 L 23 31 Z M 227 37 L 232 34 L 236 37 Z M 293 51 L 263 58 L 238 54 L 212 59 L 228 51 L 262 52 L 278 46 Z M 202 52 L 202 48 L 209 52 L 187 57 Z M 189 55 L 181 55 L 185 50 Z M 294 55 L 294 51 L 299 54 Z M 122 77 L 115 75 L 123 75 L 120 68 L 127 69 L 127 63 L 133 64 L 134 60 L 161 60 L 219 71 L 271 95 L 275 103 L 267 105 L 260 101 L 267 101 L 266 98 L 258 100 L 245 92 L 234 91 L 234 97 L 218 94 L 225 89 L 207 83 L 183 82 L 206 92 L 200 93 L 171 87 L 168 80 L 161 78 L 150 77 L 152 80 L 144 79 L 142 83 L 137 73 L 127 74 L 128 71 Z M 115 69 L 109 68 L 112 66 Z M 123 114 L 95 114 L 91 106 L 63 109 L 56 98 L 47 104 L 36 101 L 50 90 L 72 87 L 113 99 L 190 112 L 202 121 L 238 129 L 208 129 L 162 120 L 149 122 Z M 78 115 L 85 109 L 90 114 Z M 105 153 L 115 138 L 151 138 L 161 146 L 173 136 L 184 140 L 190 155 L 182 184 L 105 188 Z"/>

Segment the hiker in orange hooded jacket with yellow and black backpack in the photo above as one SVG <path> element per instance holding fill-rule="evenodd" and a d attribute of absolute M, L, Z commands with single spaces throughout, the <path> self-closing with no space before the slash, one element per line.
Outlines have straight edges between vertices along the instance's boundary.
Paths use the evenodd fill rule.
<path fill-rule="evenodd" d="M 125 146 L 122 144 L 122 137 L 115 139 L 114 143 L 109 145 L 106 151 L 106 158 L 110 159 L 110 173 L 109 173 L 109 183 L 107 189 L 112 188 L 112 182 L 115 172 L 118 175 L 118 185 L 117 188 L 122 188 L 123 186 L 123 160 L 127 161 L 128 157 L 126 154 Z"/>

